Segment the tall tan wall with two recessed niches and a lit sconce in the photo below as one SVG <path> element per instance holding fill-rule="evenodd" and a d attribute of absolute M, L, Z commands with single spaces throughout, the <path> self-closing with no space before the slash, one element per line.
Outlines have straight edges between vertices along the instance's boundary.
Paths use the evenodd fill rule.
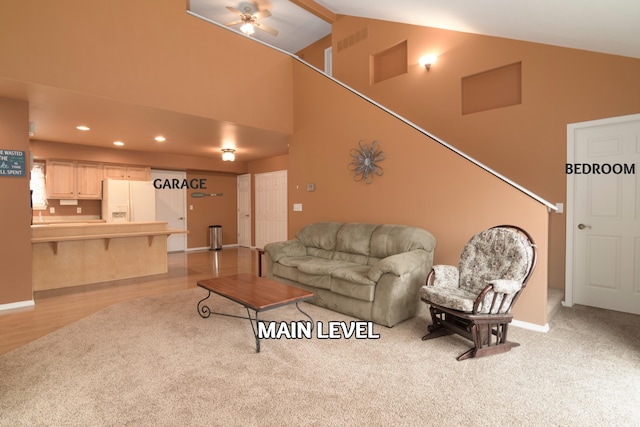
<path fill-rule="evenodd" d="M 368 29 L 338 52 L 336 41 Z M 370 85 L 370 55 L 408 41 L 408 72 Z M 552 203 L 566 206 L 567 124 L 640 112 L 640 59 L 342 17 L 333 75 Z M 428 53 L 430 72 L 418 64 Z M 522 62 L 522 104 L 462 116 L 460 79 Z M 550 216 L 549 286 L 564 288 L 565 214 Z"/>

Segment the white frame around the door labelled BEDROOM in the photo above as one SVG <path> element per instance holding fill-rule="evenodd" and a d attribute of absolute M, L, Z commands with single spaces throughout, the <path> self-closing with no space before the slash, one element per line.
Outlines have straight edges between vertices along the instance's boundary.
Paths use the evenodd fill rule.
<path fill-rule="evenodd" d="M 627 116 L 608 117 L 606 119 L 590 120 L 586 122 L 570 123 L 567 125 L 567 163 L 575 162 L 576 133 L 584 128 L 611 126 L 628 122 L 640 121 L 640 114 Z M 567 205 L 566 205 L 566 253 L 565 253 L 565 285 L 564 301 L 566 307 L 573 306 L 573 238 L 575 233 L 575 178 L 573 174 L 567 174 Z"/>

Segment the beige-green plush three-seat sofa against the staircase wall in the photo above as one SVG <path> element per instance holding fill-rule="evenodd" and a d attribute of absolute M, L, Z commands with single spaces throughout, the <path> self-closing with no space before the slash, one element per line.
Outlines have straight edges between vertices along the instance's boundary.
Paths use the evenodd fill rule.
<path fill-rule="evenodd" d="M 266 276 L 313 292 L 314 304 L 391 327 L 416 315 L 435 246 L 417 227 L 319 222 L 265 245 Z"/>

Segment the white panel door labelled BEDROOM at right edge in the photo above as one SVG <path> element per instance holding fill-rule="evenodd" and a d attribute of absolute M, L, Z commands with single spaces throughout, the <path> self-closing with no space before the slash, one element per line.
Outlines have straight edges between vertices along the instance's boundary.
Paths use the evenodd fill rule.
<path fill-rule="evenodd" d="M 567 159 L 566 303 L 640 314 L 640 115 L 570 125 Z"/>

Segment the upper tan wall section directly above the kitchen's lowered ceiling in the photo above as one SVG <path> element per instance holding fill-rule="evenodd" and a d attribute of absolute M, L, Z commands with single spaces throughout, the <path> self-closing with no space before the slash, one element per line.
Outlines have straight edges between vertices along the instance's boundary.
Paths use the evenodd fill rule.
<path fill-rule="evenodd" d="M 238 72 L 247 58 L 261 66 Z M 188 15 L 185 0 L 3 0 L 0 78 L 292 129 L 287 55 Z"/>

